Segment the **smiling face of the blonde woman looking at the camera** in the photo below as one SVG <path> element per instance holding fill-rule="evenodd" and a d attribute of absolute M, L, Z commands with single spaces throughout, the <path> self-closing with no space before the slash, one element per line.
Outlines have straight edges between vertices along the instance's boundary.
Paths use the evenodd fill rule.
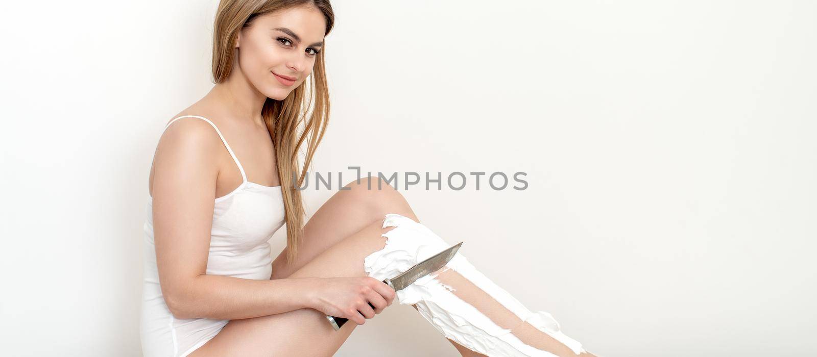
<path fill-rule="evenodd" d="M 285 99 L 312 73 L 325 29 L 324 15 L 315 7 L 258 16 L 236 40 L 241 72 L 267 98 Z"/>

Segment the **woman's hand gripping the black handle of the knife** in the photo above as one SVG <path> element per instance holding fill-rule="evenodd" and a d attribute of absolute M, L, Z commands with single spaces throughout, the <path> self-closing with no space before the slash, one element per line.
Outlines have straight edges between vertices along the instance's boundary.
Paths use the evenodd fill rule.
<path fill-rule="evenodd" d="M 395 289 L 371 276 L 315 278 L 310 305 L 326 315 L 344 317 L 355 324 L 364 324 L 391 306 Z M 369 306 L 371 303 L 374 306 Z"/>

